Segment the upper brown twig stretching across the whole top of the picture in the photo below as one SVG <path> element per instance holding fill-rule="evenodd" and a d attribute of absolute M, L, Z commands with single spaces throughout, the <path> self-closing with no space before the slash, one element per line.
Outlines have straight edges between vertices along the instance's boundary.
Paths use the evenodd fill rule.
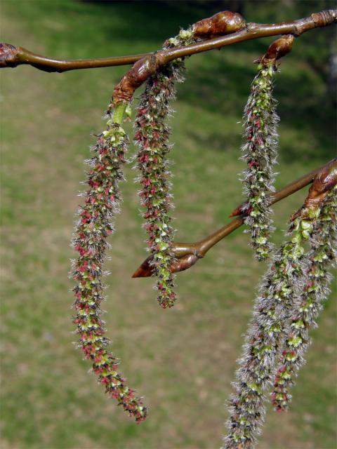
<path fill-rule="evenodd" d="M 317 27 L 326 27 L 337 22 L 337 10 L 330 9 L 312 13 L 307 18 L 293 20 L 292 22 L 281 22 L 277 24 L 246 23 L 242 30 L 227 36 L 194 43 L 190 46 L 161 50 L 156 53 L 143 53 L 139 55 L 115 56 L 112 58 L 79 59 L 79 60 L 57 60 L 46 58 L 42 55 L 32 53 L 23 47 L 13 46 L 10 43 L 0 43 L 0 67 L 17 67 L 18 65 L 32 65 L 45 72 L 67 72 L 77 69 L 94 69 L 98 67 L 112 67 L 117 65 L 130 65 L 149 55 L 155 55 L 161 64 L 166 64 L 176 58 L 202 53 L 204 51 L 220 49 L 223 46 L 232 45 L 261 37 L 277 36 L 279 34 L 293 34 L 300 36 L 304 32 Z"/>

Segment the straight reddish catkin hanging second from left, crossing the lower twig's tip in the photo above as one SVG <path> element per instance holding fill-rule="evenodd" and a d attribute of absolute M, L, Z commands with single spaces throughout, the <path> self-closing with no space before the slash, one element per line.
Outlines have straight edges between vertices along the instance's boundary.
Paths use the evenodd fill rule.
<path fill-rule="evenodd" d="M 164 44 L 164 48 L 182 46 L 194 41 L 190 30 L 182 30 Z M 175 83 L 183 81 L 185 63 L 175 60 L 161 67 L 147 80 L 145 91 L 140 97 L 135 121 L 135 141 L 139 150 L 137 168 L 138 180 L 142 185 L 140 201 L 145 208 L 145 231 L 147 245 L 154 255 L 153 274 L 157 277 L 158 302 L 163 309 L 173 307 L 176 293 L 173 292 L 174 274 L 170 266 L 174 261 L 172 243 L 174 230 L 171 226 L 171 173 L 167 155 L 171 149 L 167 125 L 172 113 L 170 103 L 175 99 Z"/>

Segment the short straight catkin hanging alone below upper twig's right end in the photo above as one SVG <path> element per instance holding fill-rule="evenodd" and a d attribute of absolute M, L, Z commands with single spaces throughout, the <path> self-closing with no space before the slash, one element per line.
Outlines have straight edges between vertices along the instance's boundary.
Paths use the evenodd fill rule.
<path fill-rule="evenodd" d="M 244 109 L 244 140 L 242 159 L 247 168 L 242 173 L 246 202 L 242 213 L 249 227 L 251 246 L 258 260 L 265 260 L 272 250 L 269 241 L 272 226 L 270 192 L 274 192 L 277 163 L 277 102 L 272 96 L 276 65 L 258 66 L 251 84 L 251 93 Z"/>

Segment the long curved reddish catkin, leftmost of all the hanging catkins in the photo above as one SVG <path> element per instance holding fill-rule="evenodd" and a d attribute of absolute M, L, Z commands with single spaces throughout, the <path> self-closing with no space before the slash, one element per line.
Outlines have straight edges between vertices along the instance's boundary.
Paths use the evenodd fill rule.
<path fill-rule="evenodd" d="M 84 206 L 79 208 L 79 222 L 74 236 L 74 249 L 79 253 L 73 261 L 74 309 L 79 347 L 93 364 L 93 372 L 105 386 L 105 391 L 117 399 L 136 422 L 145 420 L 147 410 L 134 390 L 126 386 L 118 373 L 118 361 L 108 348 L 100 305 L 104 300 L 102 276 L 107 237 L 114 232 L 112 220 L 119 212 L 121 195 L 119 182 L 124 180 L 121 165 L 125 162 L 127 136 L 119 123 L 114 123 L 112 112 L 107 113 L 107 129 L 97 136 L 93 157 L 88 165 L 88 190 Z"/>

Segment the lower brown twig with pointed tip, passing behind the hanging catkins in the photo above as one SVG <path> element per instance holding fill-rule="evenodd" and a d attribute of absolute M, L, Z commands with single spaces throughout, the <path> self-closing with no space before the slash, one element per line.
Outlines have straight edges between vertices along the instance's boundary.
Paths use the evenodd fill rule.
<path fill-rule="evenodd" d="M 317 175 L 326 173 L 327 170 L 335 170 L 335 171 L 337 170 L 337 158 L 332 159 L 328 163 L 324 164 L 324 166 L 316 168 L 307 175 L 300 177 L 298 180 L 291 182 L 289 185 L 286 185 L 286 187 L 283 187 L 283 189 L 277 190 L 277 192 L 271 195 L 272 199 L 270 201 L 270 206 L 272 204 L 277 203 L 278 201 L 281 201 L 287 196 L 290 196 L 295 192 L 298 192 L 298 190 L 303 189 L 303 187 L 310 185 L 310 183 L 312 183 L 316 179 Z M 319 182 L 319 178 L 317 178 L 317 182 Z M 242 205 L 234 209 L 233 213 L 230 216 L 239 215 L 240 210 L 242 210 Z M 224 239 L 227 235 L 232 234 L 232 232 L 234 232 L 235 229 L 238 229 L 242 225 L 244 225 L 244 214 L 235 218 L 227 225 L 218 229 L 216 232 L 213 232 L 213 234 L 206 236 L 199 242 L 173 243 L 173 251 L 174 254 L 176 255 L 177 260 L 176 262 L 173 263 L 173 266 L 171 267 L 172 271 L 182 272 L 185 269 L 192 267 L 192 265 L 194 265 L 197 262 L 197 260 L 204 257 L 206 253 L 214 245 L 216 245 L 216 243 Z M 143 264 L 140 265 L 140 267 L 136 270 L 136 272 L 133 274 L 132 277 L 138 278 L 138 277 L 151 276 L 152 273 L 152 267 L 150 265 L 151 260 L 152 256 L 147 257 L 147 259 L 143 262 Z"/>

